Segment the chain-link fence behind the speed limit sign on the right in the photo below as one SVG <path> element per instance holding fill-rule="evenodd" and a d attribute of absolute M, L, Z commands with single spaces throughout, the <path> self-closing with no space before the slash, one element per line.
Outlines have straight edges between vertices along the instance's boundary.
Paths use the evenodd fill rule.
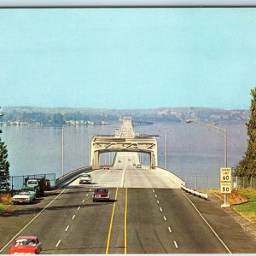
<path fill-rule="evenodd" d="M 183 177 L 190 189 L 219 189 L 219 175 L 186 175 Z M 233 189 L 256 189 L 256 177 L 232 177 Z"/>

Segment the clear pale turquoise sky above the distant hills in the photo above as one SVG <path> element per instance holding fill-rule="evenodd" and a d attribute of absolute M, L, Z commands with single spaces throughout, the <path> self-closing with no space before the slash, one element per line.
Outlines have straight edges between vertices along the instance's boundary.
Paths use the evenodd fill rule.
<path fill-rule="evenodd" d="M 248 109 L 256 8 L 0 9 L 0 106 Z"/>

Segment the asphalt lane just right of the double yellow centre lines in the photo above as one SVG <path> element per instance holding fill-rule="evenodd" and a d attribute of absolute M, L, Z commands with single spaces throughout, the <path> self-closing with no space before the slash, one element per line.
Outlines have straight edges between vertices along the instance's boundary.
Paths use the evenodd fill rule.
<path fill-rule="evenodd" d="M 177 253 L 152 189 L 129 189 L 127 253 Z"/>

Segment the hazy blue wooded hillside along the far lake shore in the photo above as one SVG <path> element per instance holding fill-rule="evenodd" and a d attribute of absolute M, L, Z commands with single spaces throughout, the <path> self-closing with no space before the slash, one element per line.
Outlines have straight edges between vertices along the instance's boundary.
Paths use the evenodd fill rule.
<path fill-rule="evenodd" d="M 187 119 L 205 122 L 247 121 L 249 110 L 225 110 L 220 108 L 154 108 L 154 109 L 102 109 L 102 108 L 41 108 L 31 106 L 3 107 L 1 119 L 4 125 L 63 125 L 108 124 L 131 116 L 133 120 L 146 122 L 183 122 Z"/>

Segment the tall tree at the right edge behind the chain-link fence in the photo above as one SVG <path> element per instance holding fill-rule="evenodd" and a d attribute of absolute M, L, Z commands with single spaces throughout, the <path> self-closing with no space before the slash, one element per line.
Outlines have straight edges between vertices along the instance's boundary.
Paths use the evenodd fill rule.
<path fill-rule="evenodd" d="M 247 151 L 235 166 L 235 175 L 256 177 L 256 88 L 251 90 L 251 115 L 247 123 Z"/>

